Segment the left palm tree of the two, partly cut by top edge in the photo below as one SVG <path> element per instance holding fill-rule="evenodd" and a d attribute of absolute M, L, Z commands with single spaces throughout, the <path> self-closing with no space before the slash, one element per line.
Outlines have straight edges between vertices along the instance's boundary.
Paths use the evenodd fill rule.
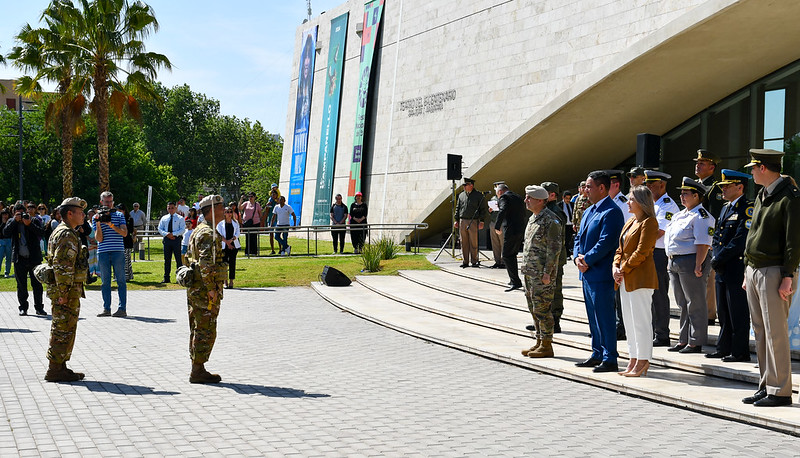
<path fill-rule="evenodd" d="M 74 10 L 71 2 L 54 0 L 40 18 L 46 26 L 38 29 L 30 24 L 23 26 L 16 36 L 18 46 L 8 55 L 16 67 L 35 72 L 34 76 L 17 80 L 18 93 L 38 99 L 42 93 L 41 81 L 58 86 L 58 96 L 45 97 L 45 126 L 54 127 L 60 133 L 64 198 L 73 195 L 72 144 L 73 138 L 85 130 L 81 115 L 86 106 L 83 91 L 73 85 L 75 53 L 70 43 L 74 39 L 74 28 L 67 19 L 71 10 Z"/>

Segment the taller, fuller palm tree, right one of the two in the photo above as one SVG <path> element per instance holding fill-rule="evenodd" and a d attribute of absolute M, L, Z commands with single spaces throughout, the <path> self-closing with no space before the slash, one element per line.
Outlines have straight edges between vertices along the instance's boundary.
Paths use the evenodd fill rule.
<path fill-rule="evenodd" d="M 66 1 L 66 0 L 64 0 Z M 143 40 L 158 31 L 153 9 L 141 1 L 80 0 L 70 17 L 76 28 L 76 84 L 93 92 L 89 104 L 97 119 L 100 191 L 109 190 L 108 114 L 125 111 L 139 119 L 139 100 L 158 100 L 156 72 L 172 69 L 163 54 L 147 52 Z M 123 68 L 127 67 L 127 68 Z M 122 77 L 124 76 L 124 80 Z"/>

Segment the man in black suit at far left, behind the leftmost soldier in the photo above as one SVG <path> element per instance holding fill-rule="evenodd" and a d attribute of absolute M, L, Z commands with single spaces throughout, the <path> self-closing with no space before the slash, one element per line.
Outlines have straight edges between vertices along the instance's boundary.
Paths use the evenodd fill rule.
<path fill-rule="evenodd" d="M 34 206 L 34 209 L 36 207 Z M 42 262 L 39 240 L 44 236 L 44 227 L 39 218 L 31 218 L 25 206 L 14 206 L 14 218 L 3 226 L 3 236 L 11 239 L 11 260 L 14 263 L 14 277 L 17 280 L 17 300 L 19 314 L 28 314 L 28 277 L 33 290 L 33 307 L 37 315 L 47 315 L 42 302 L 42 284 L 33 275 L 33 268 Z"/>

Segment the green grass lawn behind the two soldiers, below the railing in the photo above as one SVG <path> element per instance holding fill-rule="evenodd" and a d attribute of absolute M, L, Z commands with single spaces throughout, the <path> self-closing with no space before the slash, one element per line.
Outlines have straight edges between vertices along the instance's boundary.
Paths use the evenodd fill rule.
<path fill-rule="evenodd" d="M 269 239 L 266 247 L 262 246 L 261 253 L 269 253 Z M 326 245 L 327 244 L 327 245 Z M 262 240 L 263 245 L 263 240 Z M 246 258 L 243 250 L 239 251 L 236 259 L 235 286 L 242 288 L 278 287 L 278 286 L 307 286 L 312 281 L 319 280 L 324 266 L 335 267 L 348 277 L 356 275 L 396 275 L 398 270 L 436 270 L 437 267 L 425 259 L 425 253 L 430 249 L 422 250 L 420 254 L 400 254 L 395 259 L 381 261 L 379 272 L 361 272 L 364 264 L 361 256 L 344 254 L 336 256 L 322 256 L 333 253 L 331 242 L 320 241 L 318 253 L 320 256 L 294 256 L 306 253 L 306 240 L 289 239 L 292 246 L 292 256 L 265 256 Z M 349 245 L 348 245 L 349 246 Z M 295 248 L 296 247 L 296 248 Z M 323 247 L 325 249 L 323 249 Z M 175 283 L 159 283 L 164 276 L 164 257 L 161 244 L 150 245 L 150 260 L 133 263 L 134 280 L 128 282 L 131 290 L 164 290 L 183 289 Z M 352 246 L 349 246 L 352 252 Z M 314 251 L 314 241 L 311 241 L 311 252 Z M 11 269 L 12 273 L 14 269 Z M 172 265 L 172 279 L 175 278 L 175 265 Z M 113 285 L 113 283 L 112 283 Z M 89 290 L 99 290 L 100 281 L 87 286 Z M 0 291 L 16 291 L 16 282 L 13 278 L 0 278 Z M 45 300 L 47 300 L 45 298 Z"/>

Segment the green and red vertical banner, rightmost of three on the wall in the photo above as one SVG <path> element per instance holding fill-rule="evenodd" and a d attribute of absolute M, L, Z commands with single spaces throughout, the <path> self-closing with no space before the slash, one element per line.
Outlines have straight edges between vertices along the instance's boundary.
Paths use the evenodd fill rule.
<path fill-rule="evenodd" d="M 353 160 L 350 166 L 350 182 L 347 186 L 347 205 L 352 204 L 355 201 L 356 193 L 361 191 L 361 159 L 364 148 L 364 123 L 367 117 L 369 77 L 382 13 L 383 0 L 374 0 L 364 5 L 364 31 L 361 33 L 361 65 L 358 83 L 358 105 L 356 105 L 356 129 L 353 135 Z"/>

